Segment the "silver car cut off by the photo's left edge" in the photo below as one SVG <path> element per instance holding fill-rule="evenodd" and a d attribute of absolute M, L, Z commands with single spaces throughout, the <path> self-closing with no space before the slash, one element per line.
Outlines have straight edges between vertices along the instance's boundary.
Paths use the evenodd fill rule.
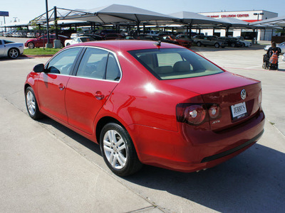
<path fill-rule="evenodd" d="M 0 40 L 0 57 L 15 59 L 24 53 L 24 43 L 15 43 L 10 40 Z"/>

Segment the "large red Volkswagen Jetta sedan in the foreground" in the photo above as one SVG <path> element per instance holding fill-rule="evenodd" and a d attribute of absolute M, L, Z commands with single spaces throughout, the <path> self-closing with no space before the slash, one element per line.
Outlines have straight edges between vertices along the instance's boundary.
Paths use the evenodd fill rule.
<path fill-rule="evenodd" d="M 264 132 L 261 82 L 170 43 L 71 45 L 36 65 L 24 89 L 32 119 L 44 114 L 99 143 L 120 176 L 142 164 L 212 168 Z"/>

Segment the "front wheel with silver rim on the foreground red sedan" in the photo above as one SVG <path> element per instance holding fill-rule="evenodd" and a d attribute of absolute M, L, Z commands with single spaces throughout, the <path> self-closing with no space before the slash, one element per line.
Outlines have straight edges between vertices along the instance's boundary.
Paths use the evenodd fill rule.
<path fill-rule="evenodd" d="M 43 114 L 41 114 L 41 111 L 38 109 L 38 102 L 36 102 L 36 96 L 31 87 L 26 88 L 25 100 L 28 115 L 33 120 L 41 119 L 41 117 L 43 117 Z"/>

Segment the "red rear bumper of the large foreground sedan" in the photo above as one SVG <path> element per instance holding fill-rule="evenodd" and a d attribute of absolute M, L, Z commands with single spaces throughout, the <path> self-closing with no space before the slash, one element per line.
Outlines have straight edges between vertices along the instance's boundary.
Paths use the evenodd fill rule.
<path fill-rule="evenodd" d="M 264 132 L 263 111 L 227 131 L 197 130 L 182 124 L 179 132 L 133 125 L 132 135 L 142 163 L 181 172 L 212 168 L 256 143 Z"/>

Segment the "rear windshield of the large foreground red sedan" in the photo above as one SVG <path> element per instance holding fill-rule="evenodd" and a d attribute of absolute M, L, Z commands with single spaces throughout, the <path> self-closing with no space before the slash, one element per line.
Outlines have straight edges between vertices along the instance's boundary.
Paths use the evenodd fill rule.
<path fill-rule="evenodd" d="M 129 51 L 159 80 L 175 80 L 224 72 L 208 60 L 187 49 L 163 48 Z"/>

